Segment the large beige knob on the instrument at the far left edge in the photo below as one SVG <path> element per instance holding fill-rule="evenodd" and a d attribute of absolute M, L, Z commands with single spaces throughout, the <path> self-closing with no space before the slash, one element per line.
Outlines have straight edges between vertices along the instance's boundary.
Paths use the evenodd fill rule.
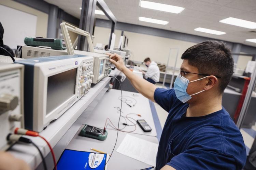
<path fill-rule="evenodd" d="M 13 96 L 10 94 L 0 95 L 0 110 L 13 111 L 18 104 L 19 104 L 19 99 L 17 96 Z"/>

